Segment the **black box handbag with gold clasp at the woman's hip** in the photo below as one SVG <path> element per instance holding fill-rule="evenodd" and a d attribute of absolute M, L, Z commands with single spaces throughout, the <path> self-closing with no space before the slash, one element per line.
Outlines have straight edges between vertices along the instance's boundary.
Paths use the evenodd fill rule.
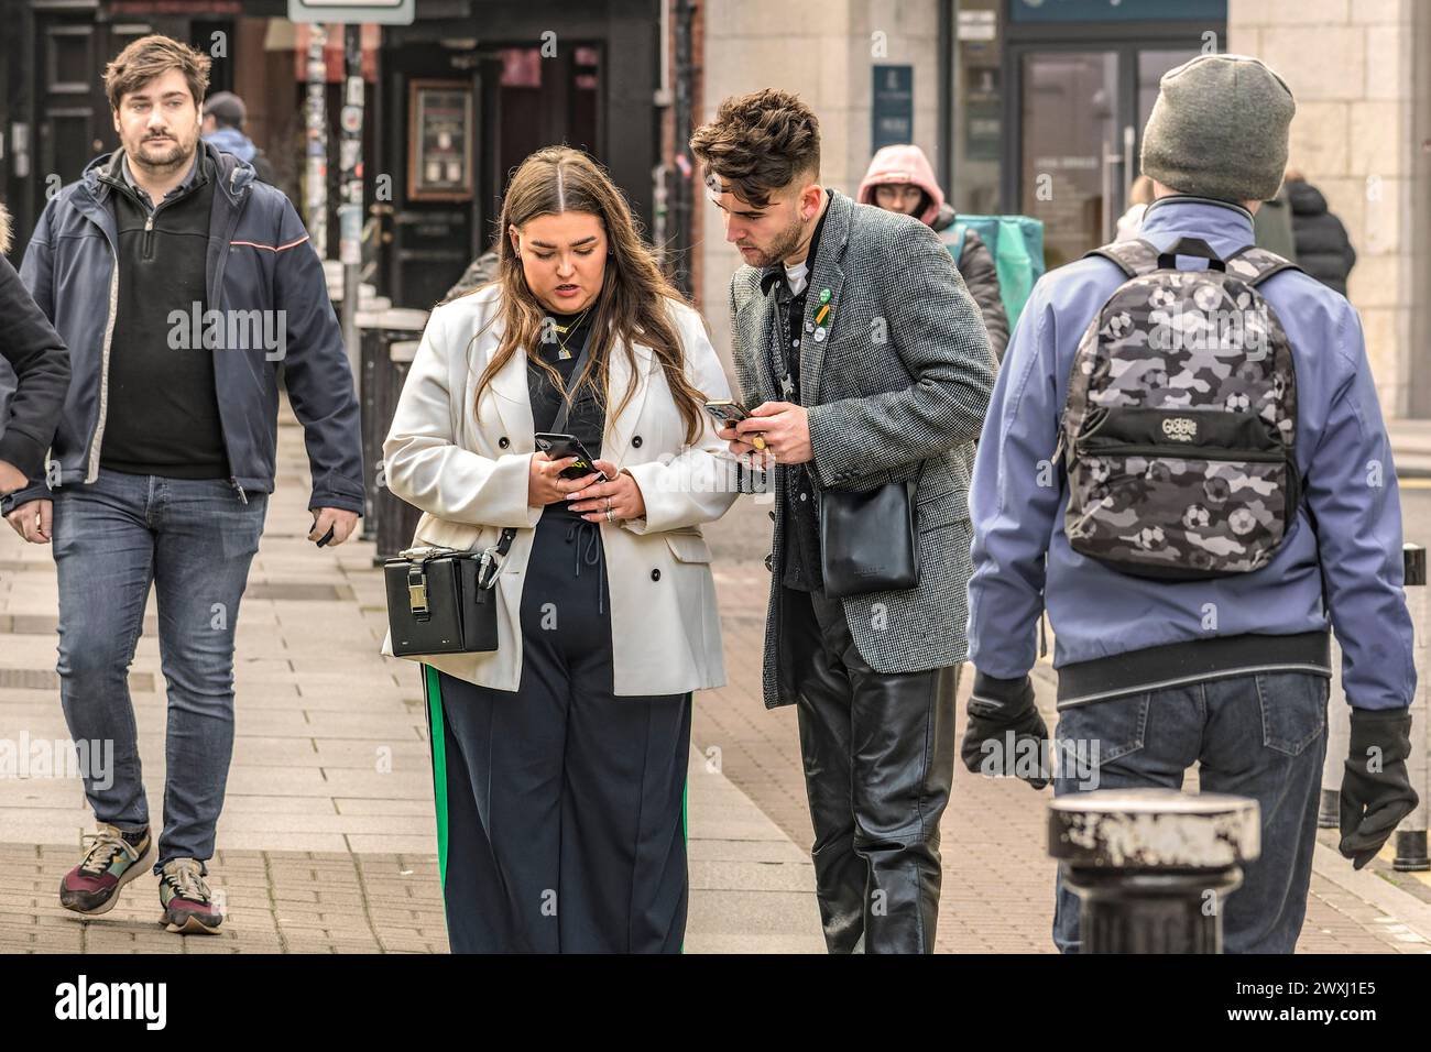
<path fill-rule="evenodd" d="M 471 654 L 497 650 L 498 557 L 517 531 L 485 551 L 409 548 L 382 565 L 392 653 Z"/>

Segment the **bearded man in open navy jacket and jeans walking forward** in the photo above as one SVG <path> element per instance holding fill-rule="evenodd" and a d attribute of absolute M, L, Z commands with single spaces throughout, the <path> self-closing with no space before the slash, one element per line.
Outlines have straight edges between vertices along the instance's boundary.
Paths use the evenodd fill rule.
<path fill-rule="evenodd" d="M 50 200 L 20 269 L 69 344 L 69 396 L 46 478 L 4 502 L 26 540 L 53 541 L 64 716 L 76 741 L 104 743 L 83 771 L 99 836 L 60 900 L 103 913 L 153 862 L 172 932 L 222 922 L 205 863 L 280 365 L 312 468 L 309 540 L 342 544 L 363 510 L 358 401 L 322 263 L 279 190 L 199 142 L 207 73 L 206 56 L 162 36 L 104 73 L 122 149 Z M 159 836 L 126 681 L 150 584 L 169 686 Z"/>

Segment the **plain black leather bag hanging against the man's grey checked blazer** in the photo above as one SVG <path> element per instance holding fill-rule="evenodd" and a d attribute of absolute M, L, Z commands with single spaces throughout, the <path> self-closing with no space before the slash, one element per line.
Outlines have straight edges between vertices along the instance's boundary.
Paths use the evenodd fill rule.
<path fill-rule="evenodd" d="M 924 474 L 873 490 L 820 494 L 820 573 L 827 595 L 896 591 L 919 584 L 919 505 Z"/>

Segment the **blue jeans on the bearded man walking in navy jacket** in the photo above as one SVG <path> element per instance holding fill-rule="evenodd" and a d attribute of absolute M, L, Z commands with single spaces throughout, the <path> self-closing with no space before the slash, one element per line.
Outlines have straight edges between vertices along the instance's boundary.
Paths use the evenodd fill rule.
<path fill-rule="evenodd" d="M 113 741 L 113 771 L 84 771 L 100 822 L 149 826 L 129 664 L 153 583 L 159 654 L 169 684 L 165 829 L 170 859 L 213 856 L 213 827 L 233 754 L 233 631 L 266 494 L 248 504 L 225 479 L 100 471 L 54 491 L 60 583 L 60 701 L 76 741 Z"/>

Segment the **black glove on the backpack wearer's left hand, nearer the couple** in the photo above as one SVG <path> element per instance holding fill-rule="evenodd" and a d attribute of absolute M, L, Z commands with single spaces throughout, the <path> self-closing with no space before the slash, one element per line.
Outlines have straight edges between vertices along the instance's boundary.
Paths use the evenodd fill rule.
<path fill-rule="evenodd" d="M 959 754 L 975 774 L 1015 776 L 1035 789 L 1049 784 L 1049 729 L 1033 704 L 1033 681 L 996 680 L 975 673 L 973 694 L 964 707 L 969 726 Z"/>

